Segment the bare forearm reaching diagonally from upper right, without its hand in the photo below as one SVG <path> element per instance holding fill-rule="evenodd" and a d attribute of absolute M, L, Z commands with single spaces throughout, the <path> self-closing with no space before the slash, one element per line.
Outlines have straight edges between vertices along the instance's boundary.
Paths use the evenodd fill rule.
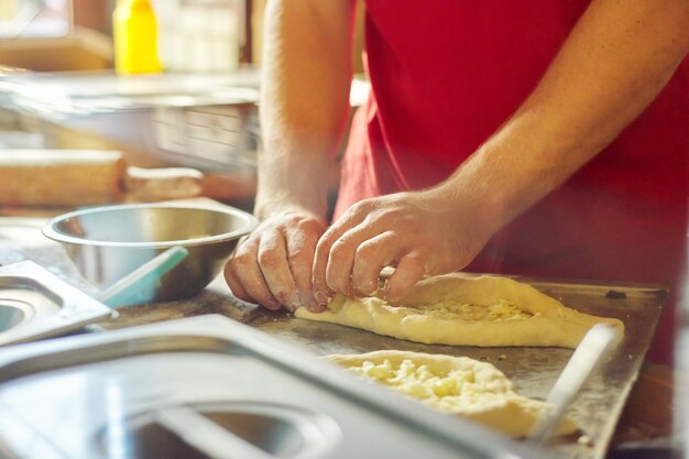
<path fill-rule="evenodd" d="M 647 107 L 689 48 L 688 23 L 685 0 L 593 1 L 534 92 L 440 185 L 442 194 L 497 230 Z"/>

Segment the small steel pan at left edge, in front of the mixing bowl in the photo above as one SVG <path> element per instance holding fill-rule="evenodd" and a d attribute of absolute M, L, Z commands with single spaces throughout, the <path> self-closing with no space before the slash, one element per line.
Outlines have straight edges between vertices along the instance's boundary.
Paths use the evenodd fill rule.
<path fill-rule="evenodd" d="M 0 266 L 0 346 L 77 330 L 112 314 L 32 261 Z"/>

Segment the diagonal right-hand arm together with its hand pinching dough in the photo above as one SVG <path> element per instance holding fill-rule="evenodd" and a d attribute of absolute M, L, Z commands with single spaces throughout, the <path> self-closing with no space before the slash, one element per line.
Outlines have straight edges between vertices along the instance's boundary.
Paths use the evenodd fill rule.
<path fill-rule="evenodd" d="M 352 206 L 321 238 L 314 295 L 369 295 L 383 266 L 400 298 L 464 267 L 657 96 L 689 48 L 686 0 L 595 0 L 522 107 L 438 187 Z"/>

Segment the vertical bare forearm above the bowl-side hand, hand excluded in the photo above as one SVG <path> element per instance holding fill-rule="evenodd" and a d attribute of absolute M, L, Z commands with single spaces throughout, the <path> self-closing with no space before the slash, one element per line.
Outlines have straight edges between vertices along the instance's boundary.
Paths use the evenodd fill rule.
<path fill-rule="evenodd" d="M 351 0 L 273 0 L 265 13 L 255 214 L 325 217 L 328 173 L 344 132 Z"/>

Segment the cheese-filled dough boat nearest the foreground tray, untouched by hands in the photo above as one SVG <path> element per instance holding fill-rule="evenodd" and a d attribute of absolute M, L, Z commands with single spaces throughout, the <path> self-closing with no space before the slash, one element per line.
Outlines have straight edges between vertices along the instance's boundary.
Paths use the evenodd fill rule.
<path fill-rule="evenodd" d="M 327 356 L 326 360 L 435 409 L 463 416 L 512 437 L 527 436 L 548 407 L 545 402 L 517 394 L 512 381 L 492 364 L 468 357 L 393 350 Z M 555 434 L 578 430 L 577 424 L 566 416 Z"/>

